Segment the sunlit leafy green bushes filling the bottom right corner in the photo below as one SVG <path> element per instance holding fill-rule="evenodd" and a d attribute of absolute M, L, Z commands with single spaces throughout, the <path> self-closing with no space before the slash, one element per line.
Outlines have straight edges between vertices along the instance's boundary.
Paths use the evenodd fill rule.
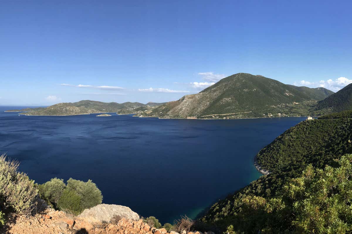
<path fill-rule="evenodd" d="M 351 162 L 352 155 L 347 154 L 336 168 L 308 165 L 278 196 L 247 196 L 242 225 L 235 229 L 238 233 L 351 233 Z"/>

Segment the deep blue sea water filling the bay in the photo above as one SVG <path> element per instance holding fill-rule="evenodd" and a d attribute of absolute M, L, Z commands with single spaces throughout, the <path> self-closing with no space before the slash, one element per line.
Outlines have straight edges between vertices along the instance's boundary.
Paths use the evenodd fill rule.
<path fill-rule="evenodd" d="M 43 183 L 92 179 L 103 203 L 173 222 L 195 217 L 260 174 L 258 151 L 303 117 L 193 120 L 25 116 L 0 106 L 0 153 Z"/>

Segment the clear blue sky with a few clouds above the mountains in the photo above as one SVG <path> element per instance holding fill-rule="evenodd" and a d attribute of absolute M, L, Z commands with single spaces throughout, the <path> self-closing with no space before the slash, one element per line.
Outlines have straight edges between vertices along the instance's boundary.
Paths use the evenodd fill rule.
<path fill-rule="evenodd" d="M 352 82 L 351 8 L 0 1 L 0 105 L 171 101 L 239 72 L 337 91 Z"/>

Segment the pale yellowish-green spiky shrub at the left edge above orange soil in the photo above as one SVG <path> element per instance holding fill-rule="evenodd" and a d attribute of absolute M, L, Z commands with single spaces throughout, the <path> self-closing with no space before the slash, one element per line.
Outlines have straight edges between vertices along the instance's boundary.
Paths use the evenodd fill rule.
<path fill-rule="evenodd" d="M 19 162 L 0 156 L 0 199 L 5 207 L 11 207 L 20 214 L 29 214 L 38 198 L 34 181 L 24 173 L 17 172 Z"/>

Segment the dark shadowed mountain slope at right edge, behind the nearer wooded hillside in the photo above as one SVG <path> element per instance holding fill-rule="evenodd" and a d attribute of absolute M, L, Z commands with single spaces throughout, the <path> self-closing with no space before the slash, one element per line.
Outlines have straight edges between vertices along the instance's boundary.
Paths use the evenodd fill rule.
<path fill-rule="evenodd" d="M 316 113 L 332 113 L 352 109 L 352 84 L 347 85 L 338 92 L 328 96 L 317 103 Z"/>

